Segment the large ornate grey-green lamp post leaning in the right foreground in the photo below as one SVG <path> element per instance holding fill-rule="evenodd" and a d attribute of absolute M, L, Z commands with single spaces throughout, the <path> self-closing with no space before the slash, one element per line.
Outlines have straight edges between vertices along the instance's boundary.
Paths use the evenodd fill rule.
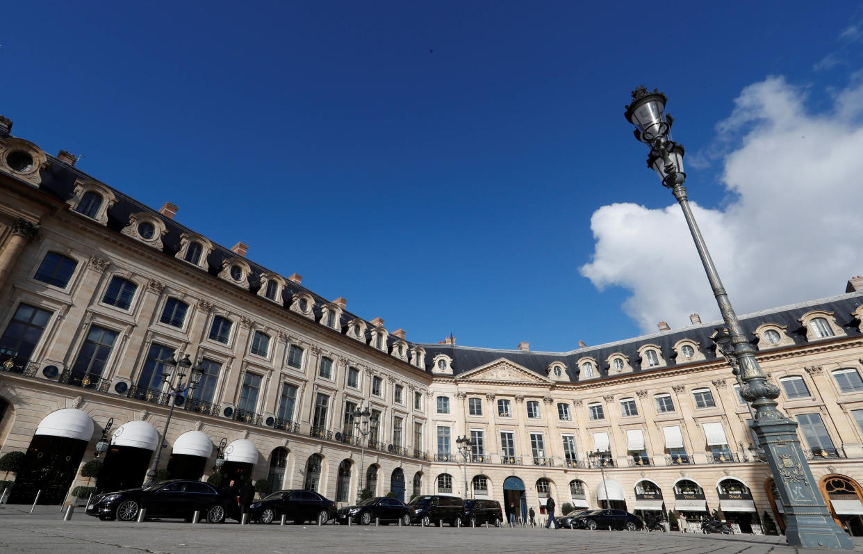
<path fill-rule="evenodd" d="M 635 89 L 632 97 L 632 104 L 627 106 L 624 116 L 635 126 L 635 138 L 650 148 L 647 166 L 659 175 L 664 186 L 671 189 L 683 210 L 719 311 L 728 327 L 733 356 L 740 368 L 740 396 L 752 402 L 755 411 L 751 427 L 765 450 L 766 461 L 770 464 L 785 508 L 788 544 L 804 548 L 853 549 L 851 538 L 835 524 L 818 491 L 816 479 L 797 438 L 797 423 L 777 408 L 775 399 L 779 389 L 766 381 L 755 359 L 755 349 L 746 339 L 698 229 L 683 186 L 686 180 L 683 146 L 671 141 L 673 119 L 665 113 L 668 98 L 658 91 L 648 92 L 644 86 Z"/>

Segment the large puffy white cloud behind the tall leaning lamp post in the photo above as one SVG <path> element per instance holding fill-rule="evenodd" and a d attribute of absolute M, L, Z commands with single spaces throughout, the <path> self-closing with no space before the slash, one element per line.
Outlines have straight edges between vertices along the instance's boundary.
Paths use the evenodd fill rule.
<path fill-rule="evenodd" d="M 739 313 L 842 293 L 863 272 L 863 83 L 835 91 L 827 114 L 808 113 L 804 96 L 781 77 L 765 79 L 717 125 L 718 142 L 735 145 L 722 173 L 730 203 L 694 211 Z M 688 178 L 697 199 L 698 175 Z M 642 331 L 660 320 L 688 325 L 692 312 L 719 318 L 676 202 L 602 206 L 591 230 L 595 252 L 581 273 L 600 289 L 629 289 L 624 309 Z"/>

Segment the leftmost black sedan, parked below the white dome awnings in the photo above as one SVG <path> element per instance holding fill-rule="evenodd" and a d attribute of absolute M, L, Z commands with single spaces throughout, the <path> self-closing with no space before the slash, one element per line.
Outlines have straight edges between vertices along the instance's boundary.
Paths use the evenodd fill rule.
<path fill-rule="evenodd" d="M 239 507 L 228 493 L 200 481 L 165 481 L 143 488 L 97 494 L 87 505 L 86 514 L 98 519 L 134 521 L 141 508 L 148 518 L 192 520 L 200 511 L 201 519 L 222 523 L 226 517 L 239 519 Z"/>

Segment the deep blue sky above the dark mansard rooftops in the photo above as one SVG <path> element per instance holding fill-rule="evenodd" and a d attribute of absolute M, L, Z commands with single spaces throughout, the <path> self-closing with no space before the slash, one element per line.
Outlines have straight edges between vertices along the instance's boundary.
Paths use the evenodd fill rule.
<path fill-rule="evenodd" d="M 652 240 L 681 228 L 639 227 L 673 198 L 622 116 L 637 85 L 669 95 L 695 161 L 690 198 L 717 229 L 751 206 L 737 200 L 746 182 L 728 179 L 753 171 L 728 163 L 759 129 L 778 140 L 764 124 L 782 119 L 773 98 L 802 98 L 783 104 L 791 118 L 859 123 L 837 104 L 863 67 L 859 3 L 123 4 L 4 7 L 16 23 L 0 30 L 0 113 L 14 134 L 82 155 L 82 170 L 154 208 L 179 205 L 180 223 L 248 243 L 249 258 L 415 342 L 452 332 L 459 344 L 567 350 L 651 320 L 681 326 L 683 312 L 712 317 L 695 250 L 680 247 L 686 269 L 672 275 L 677 261 Z M 614 203 L 643 208 L 620 224 L 647 241 L 605 251 L 612 265 L 638 263 L 589 279 L 614 236 L 591 218 Z M 791 251 L 801 222 L 788 223 L 759 236 Z M 828 278 L 747 298 L 761 274 L 711 247 L 740 312 L 841 293 L 863 272 L 860 258 L 813 245 Z"/>

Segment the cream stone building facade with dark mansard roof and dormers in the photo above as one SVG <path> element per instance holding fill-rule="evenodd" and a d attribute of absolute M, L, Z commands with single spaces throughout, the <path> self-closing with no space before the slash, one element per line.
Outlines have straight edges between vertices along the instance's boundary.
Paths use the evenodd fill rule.
<path fill-rule="evenodd" d="M 104 487 L 140 483 L 156 450 L 170 475 L 206 478 L 221 451 L 226 476 L 340 504 L 370 488 L 490 498 L 521 516 L 549 493 L 693 526 L 715 510 L 744 532 L 765 514 L 784 525 L 716 323 L 693 314 L 559 353 L 408 342 L 11 126 L 0 117 L 0 454 L 28 453 L 13 500 L 65 499 L 104 437 Z M 863 279 L 741 321 L 836 520 L 863 534 Z M 171 356 L 203 371 L 198 387 L 170 393 Z M 365 437 L 357 407 L 379 421 Z"/>

